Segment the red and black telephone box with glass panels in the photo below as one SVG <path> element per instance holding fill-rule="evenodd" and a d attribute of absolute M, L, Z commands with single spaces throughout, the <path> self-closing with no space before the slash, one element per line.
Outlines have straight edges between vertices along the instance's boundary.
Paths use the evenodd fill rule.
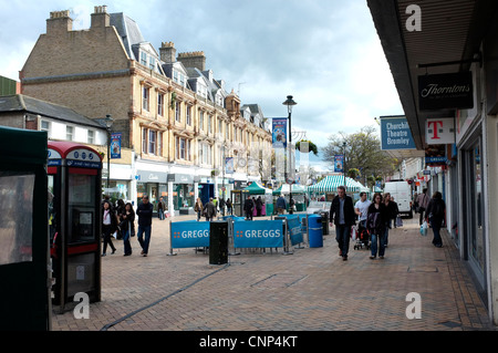
<path fill-rule="evenodd" d="M 102 157 L 71 142 L 48 147 L 52 303 L 62 312 L 80 292 L 101 300 Z"/>

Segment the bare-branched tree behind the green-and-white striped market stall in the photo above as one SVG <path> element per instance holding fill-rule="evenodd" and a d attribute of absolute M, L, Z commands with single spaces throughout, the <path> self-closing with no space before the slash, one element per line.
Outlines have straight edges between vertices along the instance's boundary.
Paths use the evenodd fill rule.
<path fill-rule="evenodd" d="M 371 176 L 374 179 L 390 176 L 398 164 L 396 158 L 381 149 L 381 141 L 374 126 L 364 126 L 350 135 L 339 132 L 332 134 L 329 141 L 329 145 L 322 148 L 323 160 L 333 164 L 334 155 L 343 155 L 345 149 L 345 167 L 359 169 L 365 185 Z"/>

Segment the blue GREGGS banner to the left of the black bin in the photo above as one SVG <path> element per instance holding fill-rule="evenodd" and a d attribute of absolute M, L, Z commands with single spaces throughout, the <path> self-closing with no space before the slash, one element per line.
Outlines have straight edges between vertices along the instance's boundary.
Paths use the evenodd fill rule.
<path fill-rule="evenodd" d="M 175 221 L 172 222 L 172 248 L 209 247 L 208 221 Z"/>

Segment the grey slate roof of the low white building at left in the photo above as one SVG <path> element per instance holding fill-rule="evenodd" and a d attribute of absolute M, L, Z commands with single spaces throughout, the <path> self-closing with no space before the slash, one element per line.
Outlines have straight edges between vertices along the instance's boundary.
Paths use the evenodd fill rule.
<path fill-rule="evenodd" d="M 4 112 L 27 112 L 58 121 L 105 129 L 105 127 L 95 121 L 76 113 L 72 108 L 37 100 L 23 94 L 0 96 L 0 114 Z"/>

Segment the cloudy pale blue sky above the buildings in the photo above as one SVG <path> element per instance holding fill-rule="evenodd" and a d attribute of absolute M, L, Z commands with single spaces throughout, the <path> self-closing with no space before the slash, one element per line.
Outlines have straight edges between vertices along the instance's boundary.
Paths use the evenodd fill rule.
<path fill-rule="evenodd" d="M 264 117 L 287 117 L 292 95 L 293 141 L 305 133 L 320 149 L 332 134 L 403 114 L 366 0 L 0 0 L 0 75 L 19 80 L 51 11 L 70 10 L 73 30 L 85 30 L 102 4 L 156 50 L 204 51 L 215 79 Z M 321 158 L 310 162 L 323 167 Z"/>

